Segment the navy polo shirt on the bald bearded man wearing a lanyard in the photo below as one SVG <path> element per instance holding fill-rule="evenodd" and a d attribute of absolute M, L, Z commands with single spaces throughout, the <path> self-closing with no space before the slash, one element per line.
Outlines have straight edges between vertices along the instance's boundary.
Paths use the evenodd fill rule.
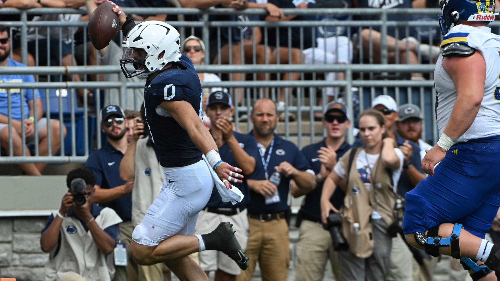
<path fill-rule="evenodd" d="M 253 135 L 253 130 L 248 133 Z M 269 147 L 265 149 L 264 160 L 267 159 L 269 154 Z M 305 171 L 310 169 L 309 163 L 305 156 L 300 152 L 298 147 L 291 141 L 281 138 L 274 134 L 274 145 L 272 147 L 271 156 L 269 157 L 269 164 L 267 165 L 267 173 L 269 177 L 275 171 L 274 167 L 279 166 L 279 163 L 287 161 L 296 169 Z M 265 179 L 264 166 L 262 159 L 259 156 L 255 165 L 255 171 L 248 176 L 248 179 L 262 180 Z M 250 202 L 248 202 L 248 213 L 276 213 L 288 210 L 290 207 L 287 204 L 288 190 L 290 186 L 291 177 L 284 177 L 281 174 L 281 181 L 278 185 L 278 193 L 280 201 L 272 204 L 265 204 L 264 196 L 253 190 L 250 190 Z"/>

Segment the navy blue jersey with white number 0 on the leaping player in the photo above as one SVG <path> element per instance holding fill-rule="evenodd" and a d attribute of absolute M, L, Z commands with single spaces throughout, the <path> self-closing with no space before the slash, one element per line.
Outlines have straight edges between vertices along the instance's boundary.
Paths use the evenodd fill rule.
<path fill-rule="evenodd" d="M 174 66 L 162 70 L 144 86 L 144 108 L 154 148 L 163 167 L 182 167 L 201 160 L 201 151 L 189 134 L 159 104 L 184 100 L 191 104 L 201 122 L 201 84 L 191 59 L 184 53 Z"/>

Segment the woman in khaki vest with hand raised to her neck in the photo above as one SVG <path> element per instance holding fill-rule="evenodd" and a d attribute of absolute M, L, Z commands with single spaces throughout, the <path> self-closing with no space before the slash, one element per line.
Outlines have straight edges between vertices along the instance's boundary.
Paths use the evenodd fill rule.
<path fill-rule="evenodd" d="M 385 120 L 375 109 L 358 117 L 365 143 L 340 158 L 324 181 L 321 193 L 323 223 L 331 211 L 339 212 L 329 198 L 340 184 L 346 196 L 342 207 L 342 233 L 349 250 L 339 251 L 342 278 L 349 281 L 385 280 L 391 236 L 388 225 L 396 220 L 396 184 L 403 153 L 385 131 Z M 345 182 L 346 181 L 346 182 Z M 345 184 L 344 184 L 345 183 Z"/>

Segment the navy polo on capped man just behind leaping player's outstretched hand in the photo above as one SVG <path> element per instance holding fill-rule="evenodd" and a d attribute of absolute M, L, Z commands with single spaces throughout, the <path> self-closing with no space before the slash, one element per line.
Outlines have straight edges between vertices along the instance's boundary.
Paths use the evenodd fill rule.
<path fill-rule="evenodd" d="M 248 155 L 252 156 L 255 158 L 255 162 L 260 161 L 260 154 L 258 152 L 258 147 L 257 147 L 257 141 L 252 135 L 248 134 L 241 134 L 239 132 L 232 132 L 234 134 L 234 137 L 236 137 L 236 140 L 239 142 L 239 146 L 245 150 Z M 218 148 L 220 158 L 222 161 L 227 162 L 229 165 L 237 167 L 236 160 L 234 160 L 234 157 L 232 156 L 232 151 L 229 149 L 229 145 L 227 145 L 227 142 L 224 142 L 224 144 Z M 236 186 L 241 193 L 243 193 L 244 197 L 241 202 L 232 204 L 231 202 L 222 202 L 222 198 L 220 197 L 220 194 L 218 193 L 216 188 L 212 189 L 212 195 L 210 196 L 210 200 L 208 200 L 208 203 L 206 203 L 207 207 L 214 207 L 214 208 L 236 208 L 236 207 L 245 207 L 246 204 L 250 201 L 250 193 L 248 190 L 248 184 L 246 183 L 246 176 L 245 178 L 242 179 L 243 182 L 241 183 L 234 183 L 231 182 L 232 185 Z"/>

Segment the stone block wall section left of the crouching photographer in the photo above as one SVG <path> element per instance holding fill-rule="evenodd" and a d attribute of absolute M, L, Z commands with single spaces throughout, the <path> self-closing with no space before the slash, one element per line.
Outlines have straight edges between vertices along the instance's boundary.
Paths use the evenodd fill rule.
<path fill-rule="evenodd" d="M 0 217 L 0 277 L 43 281 L 48 253 L 40 248 L 46 216 Z"/>

